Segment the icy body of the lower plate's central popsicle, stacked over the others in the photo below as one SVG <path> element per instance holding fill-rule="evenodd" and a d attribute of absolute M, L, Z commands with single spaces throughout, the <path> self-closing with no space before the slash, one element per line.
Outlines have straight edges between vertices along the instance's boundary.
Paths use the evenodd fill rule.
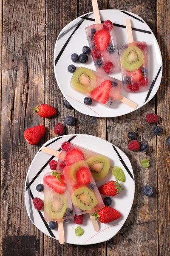
<path fill-rule="evenodd" d="M 86 161 L 65 166 L 63 173 L 77 215 L 93 213 L 105 207 Z"/>

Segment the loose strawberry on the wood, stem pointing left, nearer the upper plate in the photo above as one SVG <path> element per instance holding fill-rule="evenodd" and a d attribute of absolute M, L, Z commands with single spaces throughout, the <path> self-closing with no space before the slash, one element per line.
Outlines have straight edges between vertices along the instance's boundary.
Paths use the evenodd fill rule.
<path fill-rule="evenodd" d="M 34 108 L 34 112 L 37 112 L 41 117 L 54 116 L 57 113 L 55 108 L 48 104 L 37 105 L 37 107 Z"/>

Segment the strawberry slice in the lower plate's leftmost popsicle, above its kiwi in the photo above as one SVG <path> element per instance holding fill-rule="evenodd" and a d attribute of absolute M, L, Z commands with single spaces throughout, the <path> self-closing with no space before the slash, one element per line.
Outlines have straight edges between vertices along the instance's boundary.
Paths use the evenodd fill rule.
<path fill-rule="evenodd" d="M 61 182 L 61 183 L 60 183 Z M 51 189 L 59 194 L 63 194 L 65 192 L 66 183 L 64 180 L 64 175 L 60 176 L 60 182 L 53 175 L 48 175 L 44 177 L 44 183 L 47 184 Z"/>

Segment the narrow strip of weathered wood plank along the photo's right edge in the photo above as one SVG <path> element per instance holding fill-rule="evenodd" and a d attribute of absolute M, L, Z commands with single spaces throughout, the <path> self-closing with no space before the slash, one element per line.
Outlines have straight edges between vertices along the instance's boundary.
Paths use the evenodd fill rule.
<path fill-rule="evenodd" d="M 165 15 L 166 14 L 166 15 Z M 163 128 L 157 137 L 158 157 L 158 226 L 159 255 L 170 255 L 170 1 L 157 1 L 157 40 L 162 53 L 163 76 L 157 93 L 158 125 Z"/>

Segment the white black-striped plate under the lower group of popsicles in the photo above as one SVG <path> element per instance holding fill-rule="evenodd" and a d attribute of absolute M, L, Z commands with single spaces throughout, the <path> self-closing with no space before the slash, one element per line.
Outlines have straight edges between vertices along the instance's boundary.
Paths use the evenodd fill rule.
<path fill-rule="evenodd" d="M 116 146 L 109 143 L 106 140 L 102 140 L 98 137 L 84 134 L 71 134 L 62 137 L 57 137 L 49 140 L 43 146 L 59 150 L 61 143 L 64 141 L 71 141 L 72 143 L 95 151 L 99 154 L 108 156 L 111 159 L 112 166 L 119 166 L 123 169 L 126 177 L 126 182 L 121 183 L 124 190 L 120 195 L 112 197 L 111 207 L 117 209 L 121 213 L 121 218 L 116 221 L 112 221 L 108 224 L 99 223 L 99 232 L 94 231 L 91 224 L 91 220 L 88 214 L 84 215 L 84 221 L 81 227 L 85 230 L 83 236 L 77 237 L 74 233 L 74 229 L 78 225 L 74 224 L 73 219 L 69 223 L 64 222 L 65 242 L 69 244 L 96 244 L 108 239 L 111 239 L 125 223 L 127 216 L 133 204 L 135 183 L 133 176 L 133 169 L 127 156 Z M 43 176 L 45 173 L 50 172 L 49 161 L 51 159 L 57 160 L 57 157 L 51 157 L 41 151 L 38 151 L 34 157 L 26 177 L 25 184 L 25 203 L 29 218 L 34 225 L 48 236 L 58 240 L 58 230 L 50 230 L 48 227 L 48 221 L 44 220 L 44 210 L 37 211 L 33 205 L 34 197 L 41 198 L 43 200 L 43 192 L 38 192 L 36 186 L 39 183 L 43 184 Z M 97 186 L 101 186 L 108 180 L 115 180 L 112 173 L 109 172 L 104 180 L 96 182 Z M 102 198 L 106 196 L 102 195 Z"/>

